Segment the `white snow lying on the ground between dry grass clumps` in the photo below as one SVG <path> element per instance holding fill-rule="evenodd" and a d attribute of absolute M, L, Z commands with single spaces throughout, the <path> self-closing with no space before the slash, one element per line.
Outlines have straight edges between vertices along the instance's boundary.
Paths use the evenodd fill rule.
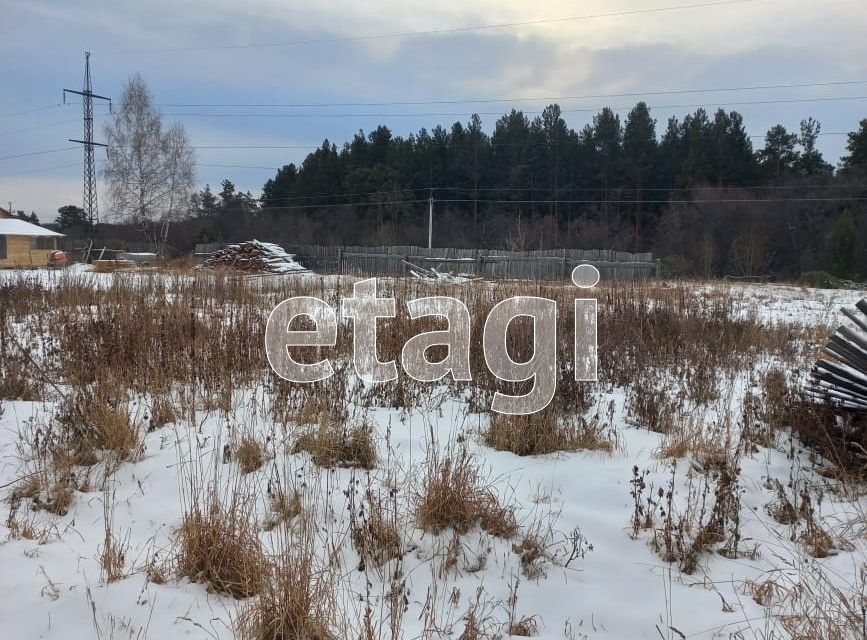
<path fill-rule="evenodd" d="M 0 284 L 16 277 L 21 276 L 0 272 Z M 62 277 L 76 277 L 107 287 L 113 278 L 135 276 L 78 268 L 24 277 L 38 278 L 46 286 Z M 696 286 L 696 295 L 715 295 L 722 289 L 735 298 L 737 314 L 793 325 L 833 326 L 840 321 L 841 306 L 865 295 L 777 285 Z M 703 412 L 696 410 L 692 420 L 717 423 L 725 406 L 737 413 L 744 393 L 757 381 L 745 372 L 726 383 L 730 388 L 724 402 Z M 596 397 L 597 406 L 612 406 L 610 426 L 617 446 L 611 453 L 518 457 L 495 451 L 482 441 L 486 417 L 468 413 L 466 404 L 453 397 L 441 400 L 433 394 L 422 406 L 409 410 L 373 408 L 367 413 L 366 421 L 375 427 L 380 460 L 369 474 L 320 469 L 309 454 L 288 452 L 290 435 L 265 417 L 270 399 L 261 388 L 239 391 L 228 414 L 202 410 L 194 420 L 178 419 L 147 433 L 142 455 L 123 463 L 104 487 L 76 492 L 65 516 L 44 511 L 23 514 L 46 532 L 45 539 L 15 539 L 3 518 L 0 637 L 234 637 L 233 621 L 249 603 L 215 594 L 187 579 L 169 576 L 163 584 L 148 579 L 148 564 L 154 557 L 159 561 L 171 556 L 175 547 L 175 531 L 183 515 L 184 470 L 190 460 L 198 460 L 206 475 L 213 474 L 226 488 L 240 483 L 255 501 L 261 522 L 267 519 L 266 493 L 275 478 L 300 487 L 302 503 L 321 518 L 317 544 L 337 549 L 332 563 L 338 575 L 335 588 L 346 622 L 343 629 L 351 631 L 353 638 L 362 634 L 359 621 L 365 606 L 372 604 L 377 615 L 385 608 L 384 596 L 396 569 L 392 561 L 385 569 L 358 570 L 358 555 L 347 540 L 350 503 L 360 499 L 355 492 L 363 494 L 368 486 L 387 491 L 384 487 L 396 482 L 398 498 L 408 503 L 431 452 L 458 446 L 477 456 L 486 481 L 504 502 L 516 507 L 518 539 L 538 532 L 546 539 L 551 558 L 543 563 L 541 575 L 528 577 L 512 548 L 515 540 L 476 529 L 460 539 L 455 551 L 450 533 L 425 533 L 407 517 L 401 527 L 405 555 L 400 573 L 407 609 L 399 637 L 458 638 L 475 601 L 480 601 L 479 611 L 489 621 L 492 635 L 505 635 L 510 618 L 526 616 L 544 638 L 786 637 L 774 618 L 776 610 L 753 598 L 751 582 L 772 577 L 781 585 L 793 584 L 819 572 L 817 581 L 827 579 L 847 594 L 861 584 L 867 561 L 867 504 L 851 491 L 836 491 L 835 483 L 819 473 L 820 465 L 785 434 L 779 434 L 774 446 L 741 458 L 740 553 L 735 557 L 704 554 L 698 569 L 684 574 L 652 548 L 651 532 L 633 535 L 630 481 L 637 467 L 639 473 L 647 472 L 647 492 L 668 490 L 673 482 L 674 503 L 685 505 L 690 483 L 696 486 L 704 477 L 696 471 L 701 461 L 689 455 L 673 467 L 670 460 L 662 459 L 658 449 L 664 436 L 641 428 L 627 416 L 623 390 L 600 384 Z M 22 434 L 47 424 L 55 407 L 52 401 L 2 401 L 4 511 L 9 509 L 15 482 L 27 469 L 22 456 L 28 454 L 28 445 Z M 129 411 L 141 424 L 146 422 L 144 403 L 131 404 Z M 223 445 L 241 429 L 254 430 L 268 443 L 272 456 L 245 476 L 234 462 L 222 459 Z M 790 492 L 810 487 L 822 495 L 813 507 L 835 540 L 837 548 L 830 557 L 812 558 L 791 539 L 793 528 L 769 515 L 767 507 L 777 497 L 775 480 Z M 125 577 L 111 583 L 102 579 L 99 561 L 106 508 L 112 512 L 115 537 L 126 546 Z M 261 540 L 272 549 L 279 536 L 264 529 Z M 592 550 L 585 549 L 583 558 L 564 566 L 575 539 L 570 534 L 576 530 Z"/>

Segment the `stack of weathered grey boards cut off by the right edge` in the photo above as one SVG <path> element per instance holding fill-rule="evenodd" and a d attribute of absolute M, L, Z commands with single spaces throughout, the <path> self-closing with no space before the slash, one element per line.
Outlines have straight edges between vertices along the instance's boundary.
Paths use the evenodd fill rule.
<path fill-rule="evenodd" d="M 852 326 L 837 329 L 823 349 L 834 360 L 813 366 L 810 395 L 842 411 L 867 413 L 867 299 L 843 313 Z"/>

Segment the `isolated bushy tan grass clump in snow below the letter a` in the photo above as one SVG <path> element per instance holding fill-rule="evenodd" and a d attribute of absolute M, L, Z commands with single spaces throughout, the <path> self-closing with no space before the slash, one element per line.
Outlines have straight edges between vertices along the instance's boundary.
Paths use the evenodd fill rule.
<path fill-rule="evenodd" d="M 478 463 L 466 450 L 442 460 L 432 457 L 416 499 L 416 518 L 425 531 L 451 527 L 463 534 L 481 525 L 501 538 L 517 532 L 513 509 L 500 504 L 493 488 L 483 484 Z"/>

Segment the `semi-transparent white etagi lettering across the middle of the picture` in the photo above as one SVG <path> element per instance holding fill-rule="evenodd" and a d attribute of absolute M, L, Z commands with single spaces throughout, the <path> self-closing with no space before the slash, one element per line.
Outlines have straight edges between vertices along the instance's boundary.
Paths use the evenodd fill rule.
<path fill-rule="evenodd" d="M 572 282 L 590 289 L 599 282 L 599 271 L 582 264 L 572 271 Z M 440 316 L 448 328 L 413 336 L 404 344 L 400 363 L 407 375 L 420 382 L 436 382 L 447 375 L 455 381 L 472 380 L 470 375 L 470 312 L 460 300 L 447 296 L 418 298 L 406 303 L 410 318 Z M 365 382 L 390 382 L 397 379 L 394 360 L 380 362 L 376 355 L 376 323 L 393 318 L 394 298 L 378 298 L 376 279 L 353 285 L 353 297 L 344 299 L 341 311 L 353 321 L 353 362 Z M 306 316 L 315 329 L 291 330 L 292 321 Z M 527 316 L 533 321 L 533 355 L 515 362 L 506 348 L 506 332 L 513 320 Z M 577 298 L 574 307 L 574 363 L 576 381 L 595 381 L 597 375 L 597 308 L 595 298 Z M 334 374 L 327 359 L 304 364 L 292 357 L 293 347 L 334 347 L 337 343 L 337 314 L 324 300 L 312 296 L 289 298 L 278 304 L 265 328 L 265 351 L 274 372 L 289 382 L 309 383 Z M 446 347 L 447 355 L 438 362 L 427 359 L 433 346 Z M 497 303 L 485 319 L 482 338 L 485 365 L 505 382 L 532 380 L 525 395 L 494 394 L 491 410 L 510 415 L 541 411 L 554 397 L 557 388 L 557 303 L 548 298 L 514 296 Z"/>

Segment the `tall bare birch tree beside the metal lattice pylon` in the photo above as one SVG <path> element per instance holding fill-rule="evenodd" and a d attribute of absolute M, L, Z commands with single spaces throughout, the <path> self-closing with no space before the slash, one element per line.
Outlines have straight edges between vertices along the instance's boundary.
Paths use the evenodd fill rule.
<path fill-rule="evenodd" d="M 163 253 L 170 224 L 188 213 L 195 154 L 180 123 L 163 129 L 162 115 L 138 74 L 130 78 L 120 110 L 105 127 L 108 182 L 114 214 L 139 227 Z"/>

